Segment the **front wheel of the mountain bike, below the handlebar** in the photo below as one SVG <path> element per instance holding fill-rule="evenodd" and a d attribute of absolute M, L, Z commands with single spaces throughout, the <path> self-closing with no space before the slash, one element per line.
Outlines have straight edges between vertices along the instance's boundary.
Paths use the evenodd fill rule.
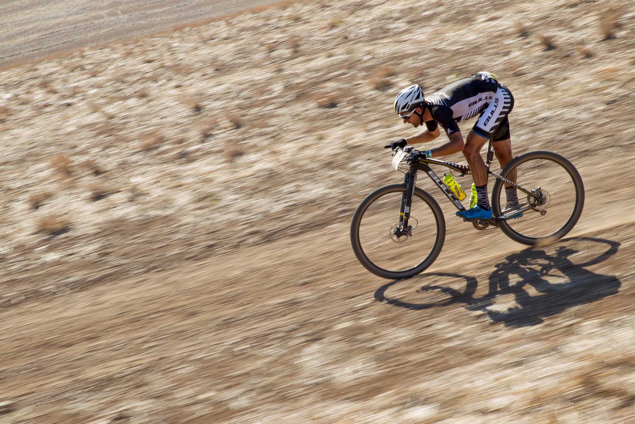
<path fill-rule="evenodd" d="M 371 273 L 397 280 L 428 268 L 445 241 L 445 219 L 439 204 L 420 188 L 410 207 L 411 228 L 399 228 L 403 184 L 373 191 L 359 205 L 351 222 L 351 245 L 359 262 Z M 396 236 L 395 233 L 403 234 Z"/>

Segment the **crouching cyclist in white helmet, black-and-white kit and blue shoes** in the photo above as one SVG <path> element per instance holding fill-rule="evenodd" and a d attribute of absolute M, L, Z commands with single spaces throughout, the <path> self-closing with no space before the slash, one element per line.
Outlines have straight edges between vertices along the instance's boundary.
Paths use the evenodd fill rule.
<path fill-rule="evenodd" d="M 445 156 L 462 151 L 470 165 L 472 179 L 476 186 L 478 203 L 471 209 L 457 212 L 457 216 L 469 219 L 489 219 L 492 217 L 487 194 L 487 171 L 481 157 L 481 148 L 491 138 L 494 154 L 502 169 L 512 159 L 509 120 L 507 115 L 514 107 L 514 97 L 509 89 L 499 83 L 491 72 L 477 72 L 459 79 L 424 99 L 424 91 L 417 84 L 404 88 L 394 102 L 395 113 L 404 123 L 417 128 L 425 123 L 427 131 L 408 139 L 399 139 L 385 147 L 404 147 L 406 144 L 425 143 L 439 137 L 438 124 L 443 127 L 449 142 L 443 146 L 425 151 L 427 157 Z M 463 135 L 457 122 L 479 115 L 478 120 L 463 142 Z M 516 182 L 516 170 L 508 179 Z M 505 182 L 507 208 L 518 205 L 516 188 Z M 517 215 L 516 217 L 519 217 Z"/>

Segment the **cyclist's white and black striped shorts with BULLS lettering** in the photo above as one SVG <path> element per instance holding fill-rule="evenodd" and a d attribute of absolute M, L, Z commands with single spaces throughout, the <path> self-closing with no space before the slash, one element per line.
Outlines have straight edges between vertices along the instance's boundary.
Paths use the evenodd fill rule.
<path fill-rule="evenodd" d="M 492 141 L 509 139 L 507 115 L 514 108 L 514 96 L 506 86 L 500 85 L 490 104 L 483 109 L 472 131 Z"/>

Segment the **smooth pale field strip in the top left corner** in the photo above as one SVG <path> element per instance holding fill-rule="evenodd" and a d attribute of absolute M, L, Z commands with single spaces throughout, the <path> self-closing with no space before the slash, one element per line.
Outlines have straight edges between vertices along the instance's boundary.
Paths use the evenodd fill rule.
<path fill-rule="evenodd" d="M 274 3 L 272 0 L 4 1 L 0 67 Z"/>

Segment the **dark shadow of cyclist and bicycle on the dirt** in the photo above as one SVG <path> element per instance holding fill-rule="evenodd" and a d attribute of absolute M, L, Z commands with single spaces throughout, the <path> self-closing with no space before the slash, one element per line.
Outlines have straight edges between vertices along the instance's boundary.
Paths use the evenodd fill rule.
<path fill-rule="evenodd" d="M 588 243 L 592 243 L 591 249 L 586 249 Z M 608 249 L 599 256 L 583 263 L 575 262 L 575 254 L 594 254 L 603 249 L 603 245 Z M 439 291 L 449 296 L 449 299 L 432 303 L 410 303 L 385 296 L 387 289 L 403 281 L 396 280 L 380 287 L 375 292 L 375 299 L 410 310 L 464 303 L 468 310 L 483 311 L 492 322 L 504 323 L 507 327 L 537 325 L 541 324 L 545 317 L 557 315 L 573 306 L 592 303 L 616 294 L 622 285 L 617 277 L 594 273 L 585 267 L 612 257 L 617 253 L 619 246 L 620 243 L 612 240 L 573 237 L 560 240 L 548 247 L 521 250 L 495 265 L 495 271 L 488 277 L 488 293 L 482 297 L 474 297 L 478 288 L 478 282 L 474 277 L 451 273 L 426 273 L 415 278 L 458 278 L 465 280 L 465 291 L 440 285 L 426 285 L 417 292 Z M 578 247 L 578 250 L 575 247 Z M 534 290 L 530 291 L 530 287 Z M 513 305 L 505 306 L 510 301 Z"/>

